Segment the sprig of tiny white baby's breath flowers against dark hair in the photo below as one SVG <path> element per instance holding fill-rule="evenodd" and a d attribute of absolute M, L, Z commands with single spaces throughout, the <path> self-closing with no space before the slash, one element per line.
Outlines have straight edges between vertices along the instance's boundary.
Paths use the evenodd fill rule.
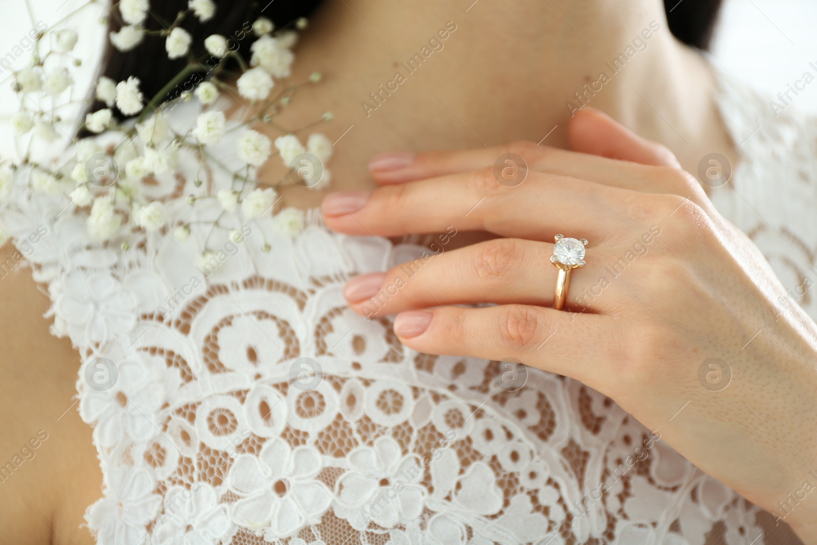
<path fill-rule="evenodd" d="M 90 0 L 86 5 L 95 2 Z M 225 213 L 240 213 L 248 221 L 270 215 L 275 229 L 297 234 L 303 227 L 303 214 L 292 208 L 281 210 L 280 206 L 275 213 L 280 200 L 276 189 L 293 183 L 323 189 L 331 179 L 324 165 L 332 156 L 333 145 L 319 133 L 311 134 L 305 144 L 297 136 L 331 120 L 329 112 L 294 130 L 275 123 L 299 87 L 321 80 L 321 74 L 313 73 L 306 82 L 290 83 L 273 95 L 276 82 L 291 75 L 296 31 L 289 28 L 276 31 L 270 20 L 260 17 L 252 24 L 245 23 L 229 38 L 220 34 L 208 36 L 203 41 L 207 55 L 197 57 L 193 53 L 193 37 L 182 24 L 191 16 L 201 22 L 211 20 L 217 11 L 212 0 L 190 0 L 187 9 L 179 12 L 175 20 L 160 20 L 164 28 L 158 30 L 146 28 L 148 18 L 156 17 L 150 12 L 148 0 L 119 0 L 109 10 L 108 17 L 122 21 L 117 31 L 109 33 L 109 40 L 118 51 L 131 51 L 145 36 L 159 36 L 165 39 L 168 59 L 186 59 L 185 67 L 155 96 L 144 96 L 136 76 L 118 82 L 101 76 L 92 98 L 75 100 L 71 97 L 72 68 L 82 64 L 72 55 L 78 33 L 54 25 L 38 34 L 29 66 L 14 73 L 13 87 L 20 98 L 20 111 L 12 117 L 11 124 L 19 141 L 28 142 L 19 163 L 0 161 L 0 199 L 3 185 L 11 184 L 11 173 L 27 165 L 29 188 L 67 195 L 74 213 L 86 216 L 89 235 L 100 243 L 119 239 L 122 248 L 127 249 L 135 232 L 167 233 L 170 229 L 176 239 L 185 241 L 190 236 L 190 225 L 201 221 L 179 223 L 168 218 L 163 201 L 150 199 L 148 186 L 155 185 L 157 177 L 172 175 L 180 167 L 180 152 L 188 150 L 199 159 L 194 186 L 202 188 L 202 192 L 190 194 L 187 202 L 195 206 L 204 199 L 215 199 L 221 207 L 220 216 L 209 221 L 211 234 L 212 230 L 223 229 L 229 236 L 230 226 L 220 222 Z M 294 26 L 303 29 L 306 20 L 297 20 Z M 41 56 L 40 42 L 48 35 L 51 50 Z M 249 47 L 249 59 L 245 60 L 239 54 L 239 42 L 249 35 L 255 39 Z M 239 66 L 239 74 L 233 76 L 234 85 L 229 83 L 230 73 L 226 69 L 233 60 Z M 234 93 L 248 101 L 254 113 L 248 110 L 251 114 L 245 121 L 230 127 L 219 105 L 224 103 L 220 101 L 222 94 L 235 97 Z M 104 107 L 88 112 L 79 122 L 60 114 L 66 106 L 84 110 L 96 101 Z M 198 101 L 201 112 L 195 126 L 180 133 L 171 127 L 168 114 L 187 101 Z M 119 122 L 114 108 L 135 119 Z M 69 137 L 76 127 L 95 136 L 71 139 L 74 155 L 59 166 L 47 167 L 46 162 L 38 161 L 38 145 L 51 144 L 61 137 L 60 133 Z M 267 127 L 278 131 L 279 136 L 272 136 Z M 230 171 L 229 188 L 203 185 L 201 173 L 207 163 L 224 167 L 209 150 L 222 145 L 227 133 L 234 130 L 239 131 L 234 139 L 235 154 L 243 167 Z M 258 169 L 276 154 L 288 174 L 272 183 L 258 181 Z M 168 225 L 171 221 L 176 225 Z M 265 248 L 269 244 L 265 243 Z M 203 252 L 208 252 L 207 241 Z"/>

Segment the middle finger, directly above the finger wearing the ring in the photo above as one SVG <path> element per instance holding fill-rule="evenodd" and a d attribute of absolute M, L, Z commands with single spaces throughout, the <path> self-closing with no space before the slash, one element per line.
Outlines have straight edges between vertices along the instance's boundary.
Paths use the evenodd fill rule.
<path fill-rule="evenodd" d="M 643 194 L 588 181 L 529 172 L 507 187 L 489 169 L 453 174 L 371 193 L 329 194 L 324 221 L 350 235 L 398 236 L 446 230 L 552 240 L 556 234 L 596 244 L 629 225 L 627 209 Z M 564 221 L 563 221 L 564 220 Z"/>

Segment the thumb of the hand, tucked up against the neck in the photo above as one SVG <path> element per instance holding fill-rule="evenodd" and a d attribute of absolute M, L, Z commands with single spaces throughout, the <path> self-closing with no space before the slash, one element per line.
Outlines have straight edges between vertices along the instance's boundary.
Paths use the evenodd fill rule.
<path fill-rule="evenodd" d="M 654 166 L 680 167 L 665 146 L 638 136 L 613 118 L 589 106 L 571 120 L 568 141 L 574 151 Z"/>

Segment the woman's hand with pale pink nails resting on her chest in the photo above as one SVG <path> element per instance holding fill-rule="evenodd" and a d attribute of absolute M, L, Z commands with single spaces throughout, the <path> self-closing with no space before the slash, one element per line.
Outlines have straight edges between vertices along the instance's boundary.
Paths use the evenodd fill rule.
<path fill-rule="evenodd" d="M 817 490 L 803 492 L 817 484 L 815 323 L 668 150 L 591 109 L 569 134 L 585 153 L 390 154 L 371 165 L 380 189 L 329 195 L 327 225 L 352 235 L 498 236 L 358 276 L 350 306 L 397 314 L 417 351 L 584 382 L 815 543 Z M 508 153 L 527 164 L 521 183 L 495 176 Z M 557 234 L 589 241 L 565 310 L 551 308 Z M 475 303 L 493 306 L 461 306 Z"/>

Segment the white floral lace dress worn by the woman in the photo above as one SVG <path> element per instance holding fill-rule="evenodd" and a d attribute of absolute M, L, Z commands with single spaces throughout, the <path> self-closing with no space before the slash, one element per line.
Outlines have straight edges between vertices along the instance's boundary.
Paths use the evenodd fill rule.
<path fill-rule="evenodd" d="M 817 124 L 774 118 L 722 79 L 744 154 L 713 199 L 817 316 L 794 291 L 817 279 Z M 211 194 L 241 166 L 233 149 L 201 174 Z M 215 199 L 186 203 L 198 166 L 181 151 L 146 188 L 168 233 L 220 213 Z M 102 545 L 796 543 L 587 386 L 529 369 L 507 391 L 502 364 L 418 354 L 390 319 L 346 307 L 346 279 L 422 248 L 337 235 L 310 211 L 294 237 L 236 212 L 221 223 L 243 226 L 242 243 L 194 223 L 185 242 L 139 230 L 123 251 L 92 243 L 26 172 L 2 221 L 21 250 L 47 229 L 29 261 L 53 333 L 82 357 L 78 408 L 105 476 L 86 517 Z M 212 275 L 197 268 L 208 236 Z"/>

